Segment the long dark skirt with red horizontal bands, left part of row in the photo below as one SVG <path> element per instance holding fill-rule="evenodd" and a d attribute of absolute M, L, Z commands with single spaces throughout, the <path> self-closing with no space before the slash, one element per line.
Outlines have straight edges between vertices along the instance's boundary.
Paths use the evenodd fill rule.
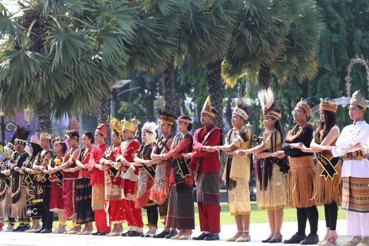
<path fill-rule="evenodd" d="M 77 179 L 77 224 L 86 224 L 95 221 L 91 206 L 92 186 L 89 177 Z"/>

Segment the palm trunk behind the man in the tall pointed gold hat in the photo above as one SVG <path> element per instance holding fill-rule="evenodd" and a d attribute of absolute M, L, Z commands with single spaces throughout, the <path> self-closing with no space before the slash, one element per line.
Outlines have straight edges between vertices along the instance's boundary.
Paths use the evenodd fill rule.
<path fill-rule="evenodd" d="M 221 64 L 223 60 L 219 59 L 206 64 L 208 68 L 208 93 L 211 106 L 216 110 L 214 123 L 223 128 L 223 79 L 221 77 Z"/>

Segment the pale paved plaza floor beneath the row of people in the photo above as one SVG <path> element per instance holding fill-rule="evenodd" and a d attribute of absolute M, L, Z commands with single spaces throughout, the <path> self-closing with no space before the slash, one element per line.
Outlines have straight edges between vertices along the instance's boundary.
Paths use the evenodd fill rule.
<path fill-rule="evenodd" d="M 297 222 L 283 223 L 282 234 L 284 239 L 290 238 L 297 230 Z M 250 235 L 251 242 L 226 242 L 225 239 L 232 237 L 237 231 L 236 225 L 221 226 L 219 241 L 195 241 L 195 240 L 170 240 L 161 238 L 140 238 L 140 237 L 106 237 L 92 235 L 60 235 L 60 234 L 34 234 L 34 233 L 16 233 L 16 232 L 0 232 L 0 245 L 40 245 L 40 246 L 80 246 L 80 245 L 106 245 L 106 246 L 165 246 L 165 245 L 232 245 L 232 244 L 247 244 L 247 245 L 268 245 L 269 243 L 261 243 L 269 235 L 269 224 L 251 224 Z M 309 232 L 309 223 L 307 222 L 306 233 Z M 325 221 L 319 221 L 318 234 L 322 239 L 326 232 Z M 338 235 L 346 234 L 346 220 L 339 220 L 337 223 Z M 200 228 L 194 230 L 193 235 L 200 234 Z M 270 244 L 269 244 L 270 245 Z M 295 245 L 275 243 L 274 245 Z M 300 245 L 300 244 L 297 244 Z"/>

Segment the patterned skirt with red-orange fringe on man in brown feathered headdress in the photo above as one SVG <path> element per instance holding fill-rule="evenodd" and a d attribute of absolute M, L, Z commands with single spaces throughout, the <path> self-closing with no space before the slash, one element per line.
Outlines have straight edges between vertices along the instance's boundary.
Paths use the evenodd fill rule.
<path fill-rule="evenodd" d="M 165 161 L 156 165 L 154 185 L 150 199 L 157 204 L 167 203 L 169 195 L 170 163 Z M 168 206 L 167 206 L 168 207 Z"/>

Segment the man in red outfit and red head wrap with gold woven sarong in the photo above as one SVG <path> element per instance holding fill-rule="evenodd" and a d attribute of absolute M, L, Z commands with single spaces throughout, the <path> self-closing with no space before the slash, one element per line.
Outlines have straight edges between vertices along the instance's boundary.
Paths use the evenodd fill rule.
<path fill-rule="evenodd" d="M 104 158 L 105 151 L 108 149 L 108 145 L 105 143 L 107 137 L 108 129 L 105 124 L 100 123 L 95 131 L 95 141 L 99 145 L 92 147 L 88 161 L 88 171 L 91 172 L 91 185 L 93 186 L 91 205 L 95 213 L 95 224 L 97 228 L 97 232 L 91 235 L 99 236 L 105 236 L 110 232 L 110 226 L 107 222 L 104 209 L 104 171 L 99 169 L 99 165 L 101 165 L 100 160 Z"/>

